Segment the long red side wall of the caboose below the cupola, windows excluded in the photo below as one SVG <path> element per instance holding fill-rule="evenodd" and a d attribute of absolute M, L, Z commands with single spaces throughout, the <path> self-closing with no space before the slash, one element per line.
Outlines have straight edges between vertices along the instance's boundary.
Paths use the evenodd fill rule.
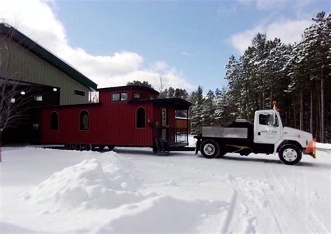
<path fill-rule="evenodd" d="M 135 112 L 140 106 L 146 111 L 145 129 L 135 127 Z M 89 130 L 87 131 L 79 129 L 79 115 L 82 110 L 89 112 Z M 59 131 L 50 130 L 50 114 L 53 111 L 59 114 Z M 152 128 L 147 124 L 148 118 L 153 119 L 152 103 L 49 108 L 42 111 L 42 141 L 51 144 L 150 146 L 153 139 Z"/>

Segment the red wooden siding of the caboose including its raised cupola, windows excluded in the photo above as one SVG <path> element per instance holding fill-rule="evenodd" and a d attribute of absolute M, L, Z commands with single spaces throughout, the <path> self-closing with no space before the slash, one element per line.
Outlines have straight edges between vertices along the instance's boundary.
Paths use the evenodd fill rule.
<path fill-rule="evenodd" d="M 129 101 L 112 102 L 112 92 L 128 92 Z M 139 92 L 140 98 L 147 101 L 132 102 L 133 93 Z M 99 94 L 100 103 L 91 105 L 68 105 L 41 110 L 41 142 L 44 144 L 92 144 L 92 145 L 130 145 L 152 146 L 153 129 L 147 124 L 161 122 L 161 107 L 168 110 L 168 125 L 175 129 L 175 110 L 170 105 L 154 105 L 148 101 L 155 95 L 145 89 L 103 90 Z M 145 109 L 145 128 L 136 128 L 136 110 Z M 89 113 L 89 130 L 80 130 L 80 112 Z M 59 115 L 59 130 L 50 130 L 50 115 L 56 111 Z M 174 134 L 168 136 L 174 141 Z"/>

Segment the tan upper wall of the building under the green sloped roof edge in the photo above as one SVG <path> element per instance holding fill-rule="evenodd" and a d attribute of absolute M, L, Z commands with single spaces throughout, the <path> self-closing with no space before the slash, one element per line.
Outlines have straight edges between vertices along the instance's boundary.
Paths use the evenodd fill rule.
<path fill-rule="evenodd" d="M 8 51 L 4 48 L 4 43 L 11 45 L 9 48 L 12 54 L 10 59 L 15 64 L 15 69 L 12 68 L 12 70 L 15 70 L 15 75 L 11 79 L 59 88 L 60 105 L 87 103 L 89 101 L 89 89 L 87 87 L 24 47 L 17 46 L 17 43 L 13 45 L 9 38 L 3 38 L 1 35 L 0 57 L 3 58 L 2 53 Z M 0 71 L 1 77 L 4 77 L 4 74 L 6 74 L 4 71 Z M 75 89 L 84 91 L 85 96 L 75 95 Z"/>

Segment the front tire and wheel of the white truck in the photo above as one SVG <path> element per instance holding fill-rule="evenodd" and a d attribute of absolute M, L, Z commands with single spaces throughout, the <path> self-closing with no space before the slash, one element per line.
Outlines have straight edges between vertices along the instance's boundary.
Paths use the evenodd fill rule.
<path fill-rule="evenodd" d="M 296 145 L 283 145 L 278 152 L 279 159 L 287 165 L 295 165 L 302 159 L 302 152 Z"/>

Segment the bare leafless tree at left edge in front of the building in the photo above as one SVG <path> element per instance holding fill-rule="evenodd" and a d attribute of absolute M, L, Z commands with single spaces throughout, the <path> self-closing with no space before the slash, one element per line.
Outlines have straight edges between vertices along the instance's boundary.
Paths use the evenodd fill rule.
<path fill-rule="evenodd" d="M 22 60 L 29 48 L 17 40 L 17 31 L 4 24 L 0 34 L 0 161 L 3 131 L 24 122 L 33 87 L 23 85 L 18 79 L 26 73 Z"/>

